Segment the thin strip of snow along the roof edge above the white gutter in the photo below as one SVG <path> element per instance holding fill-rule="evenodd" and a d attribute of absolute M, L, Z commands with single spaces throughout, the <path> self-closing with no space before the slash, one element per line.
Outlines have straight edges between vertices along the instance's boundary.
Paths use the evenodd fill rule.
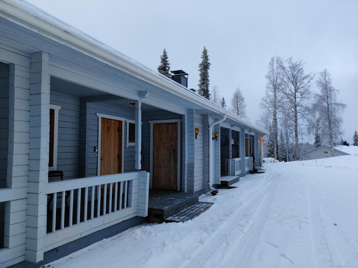
<path fill-rule="evenodd" d="M 107 53 L 110 53 L 112 54 L 113 56 L 121 59 L 121 60 L 124 60 L 124 61 L 127 61 L 128 63 L 130 64 L 133 64 L 135 65 L 136 67 L 142 69 L 142 70 L 145 70 L 146 72 L 148 73 L 151 73 L 153 75 L 156 75 L 158 76 L 159 78 L 163 79 L 163 80 L 167 80 L 167 81 L 170 81 L 171 83 L 175 84 L 176 86 L 182 88 L 182 89 L 185 89 L 187 90 L 188 92 L 192 93 L 192 94 L 195 94 L 198 98 L 202 98 L 206 101 L 208 101 L 208 104 L 210 103 L 211 105 L 215 105 L 217 106 L 218 108 L 222 109 L 223 113 L 227 114 L 231 114 L 232 116 L 234 117 L 237 117 L 238 119 L 240 119 L 240 121 L 243 121 L 243 122 L 246 122 L 248 124 L 251 124 L 253 126 L 255 126 L 255 128 L 257 130 L 261 130 L 263 131 L 263 133 L 267 133 L 267 130 L 263 129 L 263 128 L 260 128 L 259 126 L 251 123 L 250 121 L 244 119 L 244 118 L 241 118 L 240 116 L 237 116 L 231 112 L 229 112 L 228 110 L 222 108 L 220 105 L 217 105 L 215 103 L 213 103 L 211 100 L 208 100 L 206 98 L 204 98 L 203 96 L 199 95 L 198 93 L 195 93 L 194 91 L 186 88 L 185 86 L 183 85 L 180 85 L 178 83 L 176 83 L 174 80 L 164 76 L 164 75 L 161 75 L 160 73 L 158 73 L 157 71 L 145 66 L 144 64 L 141 64 L 139 61 L 136 61 L 132 58 L 130 58 L 129 56 L 121 53 L 120 51 L 112 48 L 111 46 L 108 46 L 104 43 L 102 43 L 100 40 L 97 40 L 96 38 L 93 38 L 92 36 L 84 33 L 83 31 L 73 27 L 72 25 L 69 25 L 68 23 L 56 18 L 55 16 L 47 13 L 46 11 L 38 8 L 37 6 L 29 3 L 28 1 L 25 1 L 25 0 L 4 0 L 5 2 L 13 5 L 13 6 L 16 6 L 17 8 L 29 13 L 29 14 L 32 14 L 33 16 L 59 28 L 59 29 L 62 29 L 63 31 L 66 31 L 67 33 L 79 38 L 79 39 L 82 39 L 83 41 L 86 41 L 87 43 L 93 45 L 93 46 L 96 46 L 97 48 L 101 49 L 101 50 L 104 50 L 106 51 Z"/>

